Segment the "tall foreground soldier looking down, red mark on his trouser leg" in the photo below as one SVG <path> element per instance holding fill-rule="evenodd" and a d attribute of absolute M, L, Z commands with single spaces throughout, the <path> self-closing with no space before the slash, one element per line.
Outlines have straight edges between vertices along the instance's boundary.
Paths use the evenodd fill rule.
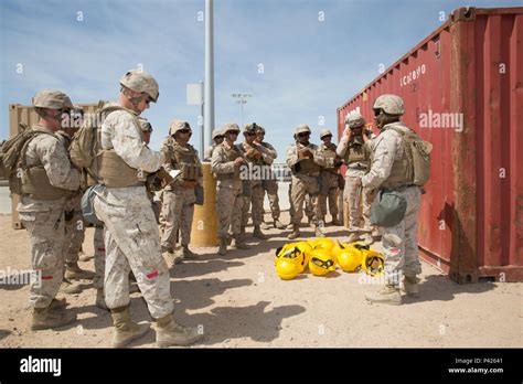
<path fill-rule="evenodd" d="M 129 71 L 120 79 L 118 104 L 102 125 L 99 178 L 94 209 L 105 225 L 105 301 L 115 332 L 113 345 L 124 346 L 140 338 L 149 324 L 137 324 L 129 313 L 129 271 L 152 318 L 157 320 L 157 344 L 186 345 L 201 339 L 195 328 L 178 324 L 172 316 L 169 270 L 161 255 L 159 232 L 145 181 L 147 173 L 166 163 L 162 153 L 143 142 L 138 115 L 157 102 L 159 87 L 145 71 Z"/>

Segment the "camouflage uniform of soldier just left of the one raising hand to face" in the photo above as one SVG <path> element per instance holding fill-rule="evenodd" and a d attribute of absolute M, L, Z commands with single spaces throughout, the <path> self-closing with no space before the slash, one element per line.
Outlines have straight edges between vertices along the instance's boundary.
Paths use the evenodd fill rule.
<path fill-rule="evenodd" d="M 319 151 L 322 152 L 323 157 L 325 158 L 335 158 L 339 159 L 335 154 L 335 145 L 330 143 L 327 146 L 322 143 L 319 148 Z M 320 195 L 319 195 L 319 204 L 321 214 L 320 217 L 324 221 L 327 215 L 327 199 L 329 199 L 329 210 L 332 216 L 332 222 L 335 225 L 338 223 L 338 193 L 339 193 L 339 185 L 338 185 L 338 170 L 340 167 L 331 167 L 331 168 L 322 168 L 320 171 Z"/>

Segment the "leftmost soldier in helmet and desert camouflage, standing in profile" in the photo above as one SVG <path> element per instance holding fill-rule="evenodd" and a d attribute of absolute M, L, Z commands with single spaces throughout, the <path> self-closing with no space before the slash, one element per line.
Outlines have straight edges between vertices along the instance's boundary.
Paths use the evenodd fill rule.
<path fill-rule="evenodd" d="M 20 203 L 18 212 L 28 230 L 32 268 L 41 274 L 31 281 L 30 305 L 33 308 L 32 330 L 68 324 L 76 316 L 65 310 L 65 302 L 55 299 L 64 274 L 65 201 L 79 188 L 79 173 L 71 164 L 63 142 L 55 136 L 62 128 L 62 116 L 73 104 L 60 90 L 44 89 L 33 98 L 40 116 L 30 129 L 39 131 L 20 153 Z"/>

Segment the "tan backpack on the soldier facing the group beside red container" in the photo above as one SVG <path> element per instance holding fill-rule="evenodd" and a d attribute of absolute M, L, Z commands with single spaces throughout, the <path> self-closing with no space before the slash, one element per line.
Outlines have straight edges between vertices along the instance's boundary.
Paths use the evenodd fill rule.
<path fill-rule="evenodd" d="M 421 139 L 414 130 L 405 131 L 396 127 L 389 127 L 399 134 L 405 148 L 407 161 L 410 169 L 414 170 L 412 175 L 413 183 L 423 186 L 430 179 L 430 152 L 433 145 Z"/>

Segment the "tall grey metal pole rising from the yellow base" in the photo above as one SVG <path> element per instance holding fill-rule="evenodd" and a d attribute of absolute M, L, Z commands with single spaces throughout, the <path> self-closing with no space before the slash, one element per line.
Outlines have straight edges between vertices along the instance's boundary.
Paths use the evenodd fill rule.
<path fill-rule="evenodd" d="M 205 81 L 204 81 L 204 146 L 211 146 L 214 128 L 214 25 L 213 0 L 205 0 Z"/>

